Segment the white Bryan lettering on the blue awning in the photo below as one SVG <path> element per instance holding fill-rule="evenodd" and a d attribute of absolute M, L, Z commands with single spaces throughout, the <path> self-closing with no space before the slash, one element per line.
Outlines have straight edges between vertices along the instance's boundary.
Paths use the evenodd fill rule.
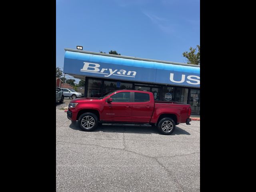
<path fill-rule="evenodd" d="M 104 74 L 104 77 L 109 77 L 111 75 L 116 76 L 124 76 L 124 77 L 135 77 L 136 71 L 126 71 L 126 70 L 118 70 L 118 69 L 111 69 L 111 68 L 100 68 L 100 64 L 97 63 L 87 63 L 84 62 L 84 67 L 80 70 L 89 73 L 99 73 Z"/>

